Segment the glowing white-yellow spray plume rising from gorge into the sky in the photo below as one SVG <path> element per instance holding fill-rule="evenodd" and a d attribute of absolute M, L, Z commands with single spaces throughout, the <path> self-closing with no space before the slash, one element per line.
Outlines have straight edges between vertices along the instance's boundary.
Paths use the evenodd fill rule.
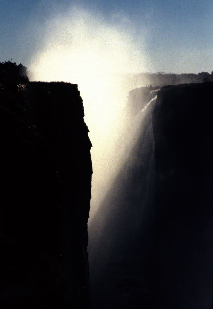
<path fill-rule="evenodd" d="M 30 61 L 31 80 L 78 84 L 93 144 L 89 223 L 133 144 L 135 133 L 126 107 L 136 86 L 131 73 L 147 69 L 142 41 L 134 40 L 125 16 L 106 21 L 101 14 L 72 7 L 38 27 L 42 37 Z"/>

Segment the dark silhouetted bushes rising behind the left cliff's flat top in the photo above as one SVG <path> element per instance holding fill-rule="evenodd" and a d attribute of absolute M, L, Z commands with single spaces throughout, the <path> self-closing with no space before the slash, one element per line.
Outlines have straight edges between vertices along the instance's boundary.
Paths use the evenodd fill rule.
<path fill-rule="evenodd" d="M 13 80 L 18 83 L 29 82 L 26 70 L 26 66 L 23 66 L 21 63 L 17 65 L 12 60 L 0 61 L 0 80 Z"/>

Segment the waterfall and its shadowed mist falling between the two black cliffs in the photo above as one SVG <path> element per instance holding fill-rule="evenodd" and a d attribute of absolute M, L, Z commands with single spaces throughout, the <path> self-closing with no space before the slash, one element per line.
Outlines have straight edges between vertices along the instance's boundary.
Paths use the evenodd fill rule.
<path fill-rule="evenodd" d="M 152 112 L 157 91 L 149 93 L 136 116 L 129 116 L 132 131 L 124 147 L 129 150 L 127 159 L 88 228 L 94 308 L 122 307 L 127 301 L 123 292 L 131 294 L 132 285 L 137 286 L 136 294 L 146 293 L 143 263 L 154 233 Z"/>

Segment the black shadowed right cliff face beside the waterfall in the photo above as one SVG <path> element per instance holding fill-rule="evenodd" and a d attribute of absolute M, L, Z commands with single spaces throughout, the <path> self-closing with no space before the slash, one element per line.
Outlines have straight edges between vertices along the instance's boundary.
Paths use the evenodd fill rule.
<path fill-rule="evenodd" d="M 163 87 L 153 112 L 155 239 L 147 278 L 155 308 L 211 308 L 213 83 Z"/>

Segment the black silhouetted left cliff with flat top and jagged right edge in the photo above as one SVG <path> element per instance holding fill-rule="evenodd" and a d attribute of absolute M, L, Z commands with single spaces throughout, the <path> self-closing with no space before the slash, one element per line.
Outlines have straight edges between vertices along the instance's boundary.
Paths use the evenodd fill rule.
<path fill-rule="evenodd" d="M 90 308 L 83 116 L 77 85 L 0 84 L 1 308 Z"/>

